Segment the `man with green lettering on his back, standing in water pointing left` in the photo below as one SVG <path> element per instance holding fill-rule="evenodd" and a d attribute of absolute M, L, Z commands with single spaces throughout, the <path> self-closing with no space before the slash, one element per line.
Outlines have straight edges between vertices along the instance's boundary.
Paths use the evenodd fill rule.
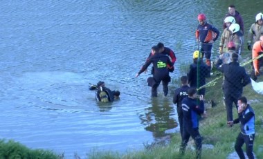
<path fill-rule="evenodd" d="M 147 79 L 148 86 L 152 87 L 152 97 L 157 97 L 157 88 L 161 82 L 163 84 L 163 94 L 167 96 L 168 84 L 171 81 L 168 69 L 172 66 L 172 62 L 169 57 L 159 53 L 159 48 L 157 46 L 152 47 L 152 54 L 153 55 L 147 59 L 143 67 L 140 68 L 140 71 L 136 73 L 136 77 L 138 77 L 140 73 L 143 73 L 150 64 L 153 64 L 153 77 Z"/>

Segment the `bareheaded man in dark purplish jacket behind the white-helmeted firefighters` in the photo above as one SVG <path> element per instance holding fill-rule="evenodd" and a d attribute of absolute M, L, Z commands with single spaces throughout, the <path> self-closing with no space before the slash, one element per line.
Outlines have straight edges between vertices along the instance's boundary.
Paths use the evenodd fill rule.
<path fill-rule="evenodd" d="M 242 31 L 242 34 L 244 34 L 244 21 L 240 13 L 235 10 L 235 6 L 233 4 L 228 6 L 228 13 L 226 13 L 226 17 L 232 16 L 235 18 L 235 23 L 240 26 L 240 30 Z M 223 24 L 223 29 L 227 28 L 226 23 Z"/>

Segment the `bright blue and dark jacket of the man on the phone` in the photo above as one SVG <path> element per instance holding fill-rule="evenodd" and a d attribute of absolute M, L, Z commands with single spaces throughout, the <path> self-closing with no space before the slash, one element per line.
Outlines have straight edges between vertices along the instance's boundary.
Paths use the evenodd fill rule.
<path fill-rule="evenodd" d="M 243 134 L 252 135 L 255 133 L 255 113 L 249 104 L 242 113 L 238 113 L 238 118 L 234 120 L 234 124 L 239 122 Z"/>

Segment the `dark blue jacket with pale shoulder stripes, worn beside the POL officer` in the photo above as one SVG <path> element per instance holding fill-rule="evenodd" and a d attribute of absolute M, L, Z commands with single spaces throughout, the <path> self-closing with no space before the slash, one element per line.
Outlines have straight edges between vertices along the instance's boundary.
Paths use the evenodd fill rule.
<path fill-rule="evenodd" d="M 197 99 L 190 97 L 183 98 L 182 101 L 183 109 L 183 127 L 188 129 L 194 129 L 199 127 L 198 115 L 204 111 L 203 100 L 197 104 Z"/>

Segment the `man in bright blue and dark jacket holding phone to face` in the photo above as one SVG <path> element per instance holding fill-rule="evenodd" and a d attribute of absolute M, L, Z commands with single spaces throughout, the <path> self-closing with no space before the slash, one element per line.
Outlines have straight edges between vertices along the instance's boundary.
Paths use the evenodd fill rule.
<path fill-rule="evenodd" d="M 237 124 L 240 122 L 241 132 L 235 142 L 235 151 L 241 159 L 245 159 L 242 145 L 246 144 L 246 155 L 249 159 L 254 158 L 253 143 L 255 139 L 255 113 L 252 107 L 247 103 L 246 97 L 239 97 L 238 101 L 238 118 L 228 124 Z"/>

